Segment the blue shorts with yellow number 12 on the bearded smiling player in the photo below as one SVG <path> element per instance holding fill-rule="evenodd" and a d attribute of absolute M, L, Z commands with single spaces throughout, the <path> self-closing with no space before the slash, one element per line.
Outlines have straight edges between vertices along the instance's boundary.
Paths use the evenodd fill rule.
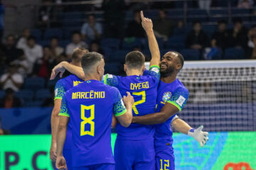
<path fill-rule="evenodd" d="M 156 170 L 174 170 L 174 148 L 172 146 L 166 146 L 161 149 L 156 149 Z"/>

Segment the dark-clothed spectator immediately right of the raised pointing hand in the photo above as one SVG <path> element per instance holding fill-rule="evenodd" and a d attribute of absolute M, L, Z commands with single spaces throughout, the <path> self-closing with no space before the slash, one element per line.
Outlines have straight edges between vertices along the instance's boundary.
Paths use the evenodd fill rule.
<path fill-rule="evenodd" d="M 159 18 L 153 21 L 154 23 L 154 33 L 157 38 L 163 38 L 167 41 L 169 36 L 174 32 L 176 27 L 176 22 L 169 20 L 167 18 L 167 12 L 164 10 L 159 11 Z"/>

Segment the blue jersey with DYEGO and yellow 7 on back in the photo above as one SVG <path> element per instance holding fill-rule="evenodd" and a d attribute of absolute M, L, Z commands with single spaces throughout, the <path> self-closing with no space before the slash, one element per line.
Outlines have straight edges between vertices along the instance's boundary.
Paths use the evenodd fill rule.
<path fill-rule="evenodd" d="M 104 82 L 119 89 L 122 96 L 127 91 L 134 97 L 133 116 L 154 113 L 156 109 L 157 86 L 160 74 L 158 66 L 151 66 L 144 71 L 143 76 L 117 77 L 105 75 Z M 117 137 L 124 140 L 153 140 L 154 125 L 139 125 L 132 123 L 128 128 L 117 124 Z"/>

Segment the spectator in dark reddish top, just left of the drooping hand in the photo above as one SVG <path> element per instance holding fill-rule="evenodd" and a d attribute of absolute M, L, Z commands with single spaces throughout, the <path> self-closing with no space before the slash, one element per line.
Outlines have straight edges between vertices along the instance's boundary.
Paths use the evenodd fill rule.
<path fill-rule="evenodd" d="M 55 57 L 50 51 L 50 47 L 43 47 L 43 57 L 36 60 L 33 67 L 33 74 L 38 77 L 48 78 L 50 77 L 51 69 L 55 66 L 55 64 Z"/>

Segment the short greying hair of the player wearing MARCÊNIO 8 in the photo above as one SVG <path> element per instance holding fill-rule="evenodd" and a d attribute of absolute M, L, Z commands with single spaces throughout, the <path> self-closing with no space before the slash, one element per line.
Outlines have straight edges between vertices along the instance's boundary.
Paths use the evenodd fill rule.
<path fill-rule="evenodd" d="M 98 52 L 87 52 L 81 60 L 82 69 L 88 72 L 97 62 L 100 62 L 103 56 Z"/>

